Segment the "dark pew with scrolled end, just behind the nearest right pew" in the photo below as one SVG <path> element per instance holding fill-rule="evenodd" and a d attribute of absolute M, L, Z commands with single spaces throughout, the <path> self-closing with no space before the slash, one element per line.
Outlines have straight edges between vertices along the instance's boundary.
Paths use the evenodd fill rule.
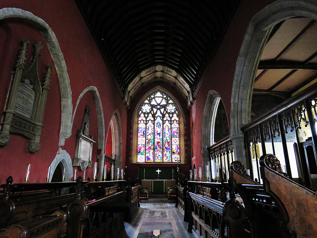
<path fill-rule="evenodd" d="M 280 199 L 267 193 L 264 184 L 252 180 L 240 161 L 234 161 L 230 169 L 230 185 L 241 196 L 247 217 L 243 234 L 256 238 L 293 238 L 286 227 L 287 212 Z"/>

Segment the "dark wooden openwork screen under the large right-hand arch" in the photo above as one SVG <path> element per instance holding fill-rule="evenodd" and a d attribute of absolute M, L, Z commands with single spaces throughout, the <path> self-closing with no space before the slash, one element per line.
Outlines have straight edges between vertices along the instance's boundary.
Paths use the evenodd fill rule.
<path fill-rule="evenodd" d="M 290 179 L 317 190 L 317 87 L 273 108 L 241 130 L 252 178 L 261 181 L 260 157 L 277 156 Z"/>

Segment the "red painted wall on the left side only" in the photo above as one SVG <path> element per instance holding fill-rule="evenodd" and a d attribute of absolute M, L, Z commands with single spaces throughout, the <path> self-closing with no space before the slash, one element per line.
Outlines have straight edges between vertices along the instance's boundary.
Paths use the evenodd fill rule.
<path fill-rule="evenodd" d="M 125 160 L 126 108 L 76 3 L 68 0 L 1 0 L 0 9 L 4 7 L 16 7 L 32 12 L 51 27 L 66 62 L 73 111 L 79 95 L 89 86 L 95 86 L 99 91 L 105 129 L 107 129 L 113 112 L 119 110 L 123 136 L 122 157 Z M 1 20 L 0 36 L 0 110 L 2 112 L 10 85 L 10 74 L 20 48 L 19 42 L 24 38 L 31 42 L 36 40 L 42 42 L 44 49 L 39 65 L 40 75 L 43 75 L 42 64 L 53 64 L 53 60 L 40 32 L 23 20 Z M 31 48 L 28 51 L 28 57 L 30 57 L 30 52 Z M 30 154 L 26 151 L 28 140 L 19 135 L 11 135 L 9 144 L 0 148 L 0 183 L 5 183 L 5 179 L 9 175 L 13 177 L 14 182 L 23 182 L 29 163 L 32 164 L 29 182 L 44 182 L 46 179 L 48 166 L 51 165 L 58 151 L 61 126 L 61 96 L 54 66 L 51 80 L 43 121 L 41 149 L 35 154 Z M 75 134 L 80 128 L 86 105 L 89 105 L 91 110 L 90 134 L 98 142 L 96 110 L 88 92 L 83 96 L 77 108 L 72 135 L 66 139 L 65 145 L 61 148 L 66 150 L 71 158 L 75 152 Z M 93 162 L 96 161 L 97 143 L 93 146 Z M 93 169 L 90 170 L 91 172 L 87 171 L 86 177 L 92 178 Z"/>

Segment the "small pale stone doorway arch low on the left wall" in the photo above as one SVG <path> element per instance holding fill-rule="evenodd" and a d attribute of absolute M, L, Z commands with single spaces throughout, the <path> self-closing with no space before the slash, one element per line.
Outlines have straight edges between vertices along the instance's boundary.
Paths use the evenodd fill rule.
<path fill-rule="evenodd" d="M 61 162 L 62 167 L 65 168 L 65 181 L 70 181 L 70 179 L 73 177 L 72 160 L 66 150 L 62 150 L 61 148 L 59 148 L 51 164 L 50 182 L 52 180 L 54 171 L 57 165 L 59 164 L 59 162 Z"/>

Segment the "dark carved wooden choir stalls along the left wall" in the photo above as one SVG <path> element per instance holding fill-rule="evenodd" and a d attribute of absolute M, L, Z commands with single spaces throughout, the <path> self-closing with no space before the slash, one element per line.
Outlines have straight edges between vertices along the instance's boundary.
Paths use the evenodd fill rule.
<path fill-rule="evenodd" d="M 8 178 L 7 183 L 1 185 L 3 195 L 0 196 L 0 237 L 15 238 L 16 235 L 12 235 L 13 230 L 22 231 L 25 237 L 33 237 L 37 233 L 37 236 L 43 237 L 113 237 L 115 231 L 124 229 L 123 219 L 127 210 L 120 209 L 128 209 L 131 219 L 133 211 L 140 206 L 140 186 L 131 187 L 126 200 L 124 180 L 78 180 L 12 184 L 13 179 Z M 66 189 L 65 195 L 60 195 L 61 189 Z M 107 203 L 112 205 L 106 210 L 101 211 L 98 208 Z M 57 211 L 65 214 L 63 219 L 67 223 L 60 219 L 60 214 L 54 214 Z M 48 225 L 51 223 L 55 227 L 56 224 L 63 224 L 60 226 L 64 230 L 52 228 L 51 232 L 45 233 L 48 226 L 52 227 Z"/>

